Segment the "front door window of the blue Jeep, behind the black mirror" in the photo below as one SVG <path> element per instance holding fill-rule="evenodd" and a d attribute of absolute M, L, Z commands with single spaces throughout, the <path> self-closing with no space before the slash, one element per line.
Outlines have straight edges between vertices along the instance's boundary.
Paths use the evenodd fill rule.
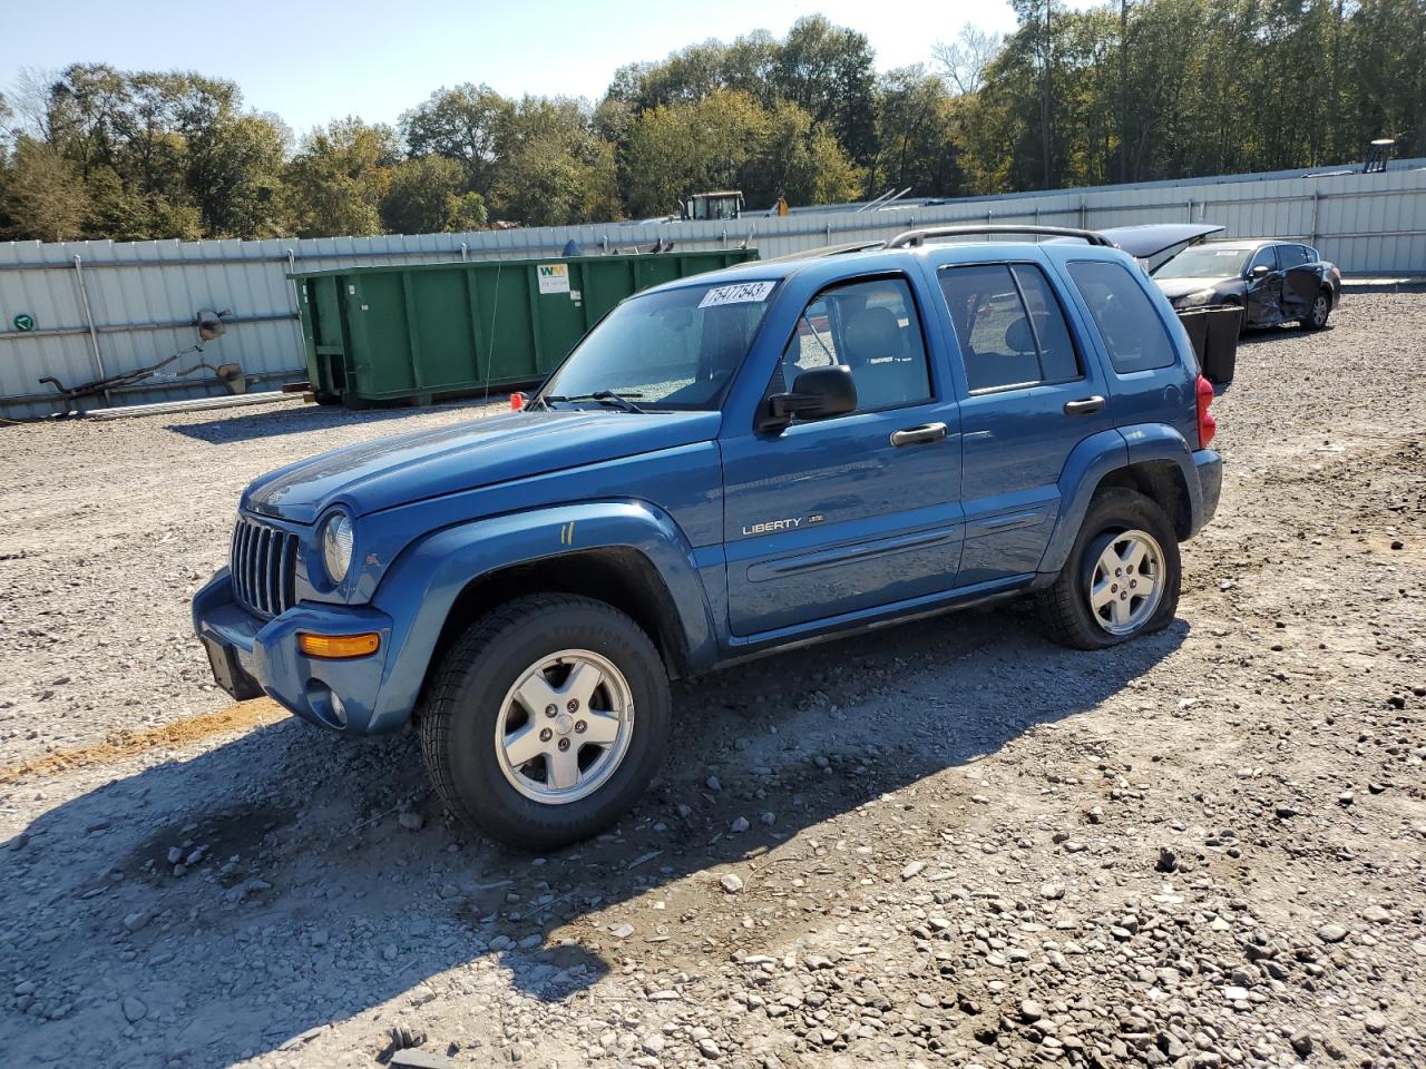
<path fill-rule="evenodd" d="M 783 351 L 773 392 L 790 391 L 809 368 L 844 363 L 857 386 L 857 412 L 931 399 L 921 324 L 900 278 L 833 286 L 803 309 Z"/>

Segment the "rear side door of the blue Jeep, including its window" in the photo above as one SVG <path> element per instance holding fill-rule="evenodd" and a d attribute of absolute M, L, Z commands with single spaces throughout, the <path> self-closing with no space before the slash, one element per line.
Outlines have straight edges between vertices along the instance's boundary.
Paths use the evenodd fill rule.
<path fill-rule="evenodd" d="M 1104 373 L 1075 345 L 1034 249 L 937 269 L 964 376 L 957 586 L 1032 573 L 1060 515 L 1070 452 L 1112 425 Z"/>

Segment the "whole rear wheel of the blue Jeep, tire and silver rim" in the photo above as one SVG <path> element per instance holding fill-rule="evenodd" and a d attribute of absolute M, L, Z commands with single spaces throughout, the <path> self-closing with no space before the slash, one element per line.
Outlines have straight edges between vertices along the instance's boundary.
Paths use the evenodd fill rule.
<path fill-rule="evenodd" d="M 1166 626 L 1181 580 L 1178 537 L 1164 510 L 1137 490 L 1109 489 L 1089 505 L 1040 609 L 1057 641 L 1099 650 Z"/>

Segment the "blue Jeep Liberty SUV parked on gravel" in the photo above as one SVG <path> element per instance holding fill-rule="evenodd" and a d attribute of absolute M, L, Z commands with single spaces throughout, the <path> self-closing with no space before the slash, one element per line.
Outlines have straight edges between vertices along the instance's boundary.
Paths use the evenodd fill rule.
<path fill-rule="evenodd" d="M 1079 649 L 1164 627 L 1211 401 L 1094 232 L 753 262 L 626 299 L 522 412 L 255 480 L 194 624 L 234 697 L 415 721 L 458 817 L 545 849 L 643 791 L 673 677 L 1021 593 Z"/>

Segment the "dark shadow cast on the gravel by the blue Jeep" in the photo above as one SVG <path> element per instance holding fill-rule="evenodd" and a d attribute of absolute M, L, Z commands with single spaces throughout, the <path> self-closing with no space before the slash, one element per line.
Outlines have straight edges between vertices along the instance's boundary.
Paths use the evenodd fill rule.
<path fill-rule="evenodd" d="M 20 1065 L 220 1066 L 365 1013 L 375 1055 L 441 989 L 553 1002 L 630 955 L 674 972 L 702 954 L 683 922 L 723 898 L 723 875 L 756 911 L 769 867 L 810 868 L 826 821 L 1094 708 L 1188 630 L 1072 653 L 1001 607 L 680 683 L 663 777 L 613 831 L 548 857 L 452 827 L 411 734 L 279 721 L 104 783 L 11 840 L 0 971 L 31 986 L 0 1006 L 0 1035 Z M 954 824 L 957 790 L 924 820 Z"/>

